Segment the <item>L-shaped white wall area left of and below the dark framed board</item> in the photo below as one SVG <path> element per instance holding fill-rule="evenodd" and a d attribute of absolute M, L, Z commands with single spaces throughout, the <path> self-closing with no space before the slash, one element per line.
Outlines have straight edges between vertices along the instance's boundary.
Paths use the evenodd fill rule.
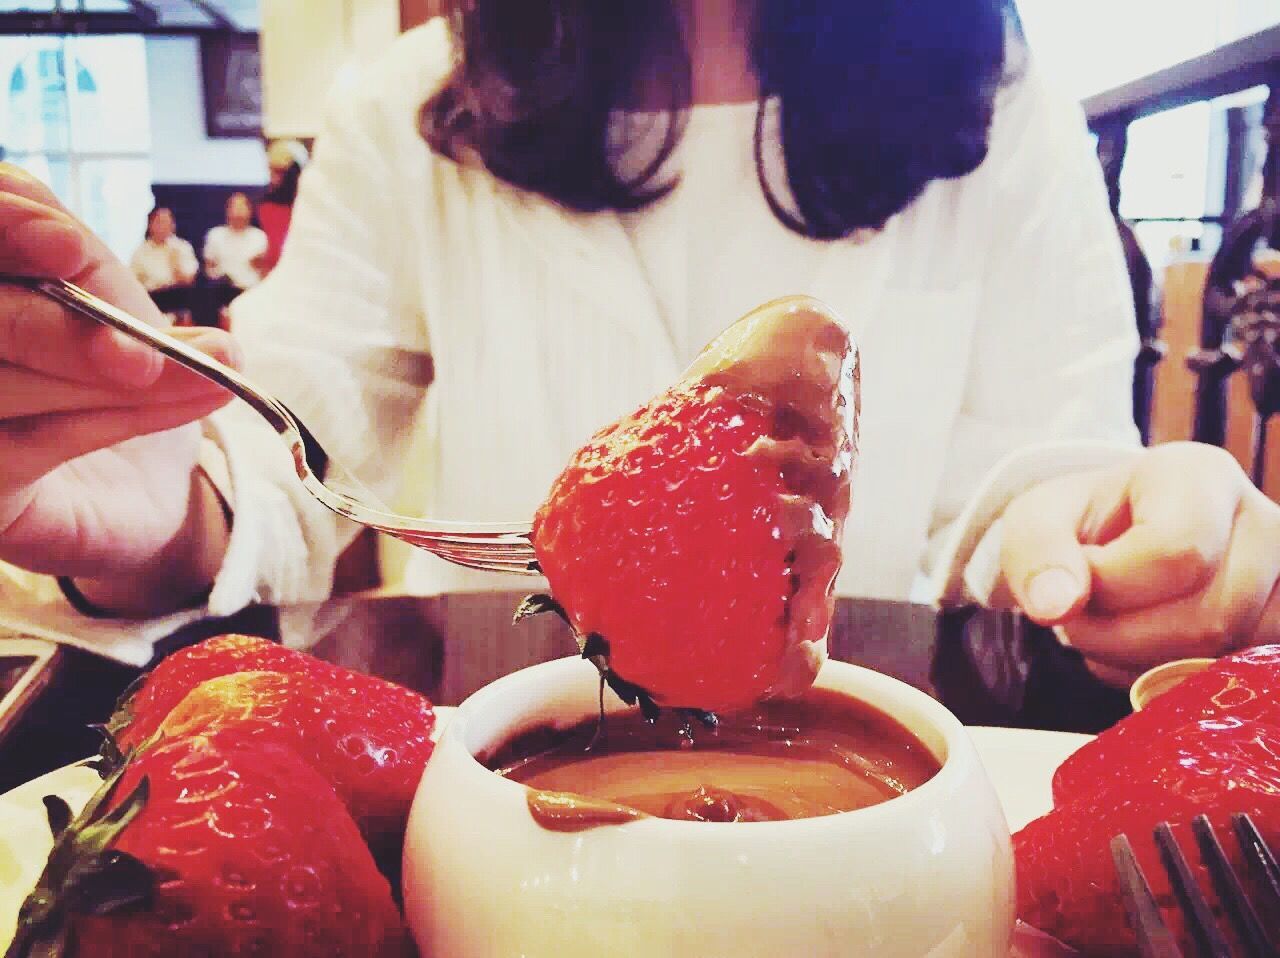
<path fill-rule="evenodd" d="M 151 179 L 155 183 L 261 186 L 266 156 L 256 138 L 210 140 L 197 37 L 147 37 Z"/>

